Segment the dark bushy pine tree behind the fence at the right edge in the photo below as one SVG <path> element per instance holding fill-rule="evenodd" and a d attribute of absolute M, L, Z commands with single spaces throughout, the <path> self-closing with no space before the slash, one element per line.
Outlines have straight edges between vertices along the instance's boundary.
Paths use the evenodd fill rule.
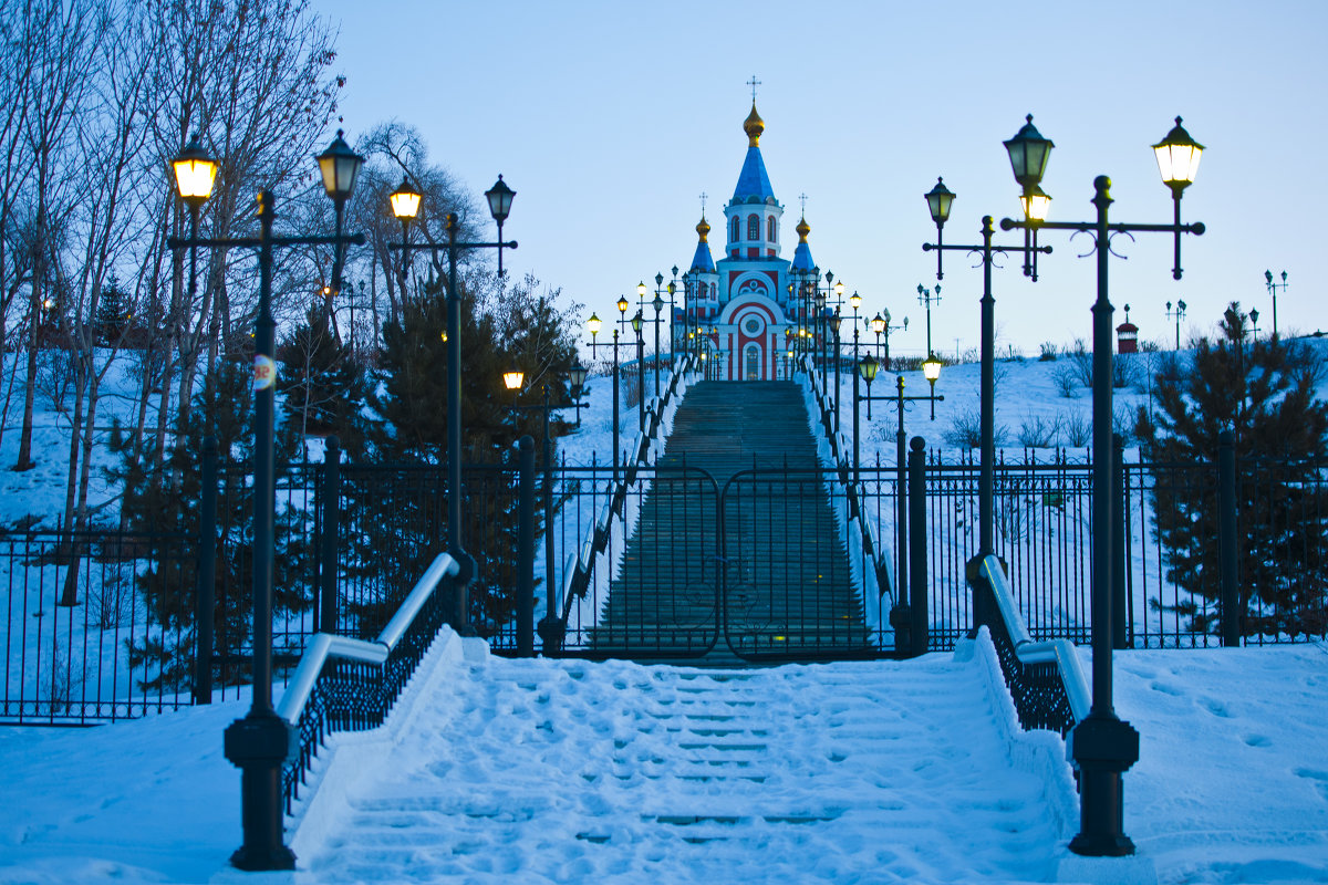
<path fill-rule="evenodd" d="M 1175 608 L 1194 630 L 1219 626 L 1204 614 L 1220 594 L 1218 483 L 1215 472 L 1185 468 L 1216 464 L 1218 435 L 1234 430 L 1243 632 L 1321 636 L 1328 495 L 1317 471 L 1309 482 L 1303 472 L 1328 455 L 1328 403 L 1315 399 L 1320 365 L 1300 342 L 1248 342 L 1238 303 L 1220 328 L 1215 344 L 1198 342 L 1189 372 L 1158 379 L 1158 407 L 1141 409 L 1137 423 L 1158 470 L 1154 529 L 1167 577 L 1194 597 Z"/>

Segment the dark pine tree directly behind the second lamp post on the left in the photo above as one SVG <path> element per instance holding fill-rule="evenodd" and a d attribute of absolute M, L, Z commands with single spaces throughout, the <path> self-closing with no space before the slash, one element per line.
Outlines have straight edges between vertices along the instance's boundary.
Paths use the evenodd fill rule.
<path fill-rule="evenodd" d="M 566 332 L 564 318 L 554 309 L 556 293 L 531 299 L 529 293 L 534 285 L 534 280 L 527 279 L 485 300 L 471 287 L 461 287 L 461 411 L 466 464 L 493 464 L 505 459 L 525 434 L 535 438 L 537 444 L 542 442 L 543 410 L 513 406 L 542 405 L 543 383 L 550 385 L 552 407 L 568 402 L 566 378 L 575 360 L 575 344 Z M 404 305 L 400 322 L 384 328 L 382 383 L 371 397 L 381 421 L 369 431 L 376 459 L 381 463 L 440 467 L 446 463 L 448 345 L 442 289 L 438 283 L 426 287 L 422 300 Z M 502 374 L 511 370 L 525 373 L 525 391 L 514 394 L 503 387 Z M 567 429 L 556 415 L 551 418 L 551 437 L 566 434 Z M 441 479 L 437 486 L 442 486 Z M 471 552 L 483 553 L 482 568 L 470 589 L 471 617 L 487 634 L 510 620 L 515 605 L 510 594 L 513 581 L 505 580 L 515 564 L 515 499 L 510 488 L 491 484 L 479 488 L 474 480 L 467 482 L 465 494 L 463 539 Z M 386 502 L 367 499 L 364 506 L 372 511 Z M 372 555 L 367 551 L 365 556 L 355 559 L 376 573 L 381 573 L 384 563 L 390 563 L 393 589 L 389 596 L 394 597 L 409 589 L 429 557 L 441 548 L 446 535 L 446 502 L 420 494 L 394 499 L 390 507 L 390 512 L 378 511 L 373 524 L 364 527 Z M 543 502 L 538 502 L 537 520 L 542 516 Z M 386 529 L 393 520 L 409 528 L 405 532 Z M 542 525 L 537 525 L 537 533 L 539 531 Z M 481 539 L 486 541 L 483 551 L 475 547 Z M 390 600 L 382 604 L 390 605 Z M 372 621 L 376 616 L 365 610 L 361 617 Z"/>

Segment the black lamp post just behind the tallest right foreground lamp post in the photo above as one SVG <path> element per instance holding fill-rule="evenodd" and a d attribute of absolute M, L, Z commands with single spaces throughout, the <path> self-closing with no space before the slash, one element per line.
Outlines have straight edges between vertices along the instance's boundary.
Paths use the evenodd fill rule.
<path fill-rule="evenodd" d="M 955 203 L 955 194 L 938 178 L 936 186 L 923 195 L 927 200 L 927 211 L 931 220 L 936 223 L 936 241 L 923 243 L 923 251 L 936 252 L 936 279 L 943 276 L 942 259 L 947 251 L 981 252 L 983 263 L 983 297 L 981 297 L 981 381 L 980 381 L 980 468 L 977 475 L 977 556 L 969 561 L 971 572 L 976 573 L 976 564 L 996 552 L 996 299 L 992 297 L 992 263 L 996 253 L 1020 251 L 1023 247 L 992 245 L 992 216 L 983 216 L 981 245 L 946 244 L 942 240 L 942 228 L 950 220 L 950 210 Z M 1035 210 L 1041 210 L 1045 203 L 1033 203 Z M 1037 248 L 1037 247 L 1027 247 Z M 1050 252 L 1050 247 L 1041 247 L 1041 251 Z M 922 287 L 919 287 L 922 288 Z M 936 287 L 940 288 L 939 285 Z M 930 325 L 930 324 L 928 324 Z M 930 337 L 930 336 L 928 336 Z M 928 358 L 931 357 L 928 352 Z M 932 406 L 935 411 L 935 406 Z M 934 415 L 935 417 L 935 415 Z"/>

